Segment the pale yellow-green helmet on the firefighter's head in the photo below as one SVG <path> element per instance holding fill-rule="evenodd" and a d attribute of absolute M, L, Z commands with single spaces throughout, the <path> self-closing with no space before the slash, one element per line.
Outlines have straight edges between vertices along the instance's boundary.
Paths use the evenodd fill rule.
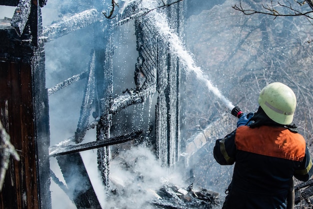
<path fill-rule="evenodd" d="M 296 97 L 287 85 L 281 82 L 273 82 L 261 90 L 258 104 L 270 119 L 286 125 L 292 122 Z"/>

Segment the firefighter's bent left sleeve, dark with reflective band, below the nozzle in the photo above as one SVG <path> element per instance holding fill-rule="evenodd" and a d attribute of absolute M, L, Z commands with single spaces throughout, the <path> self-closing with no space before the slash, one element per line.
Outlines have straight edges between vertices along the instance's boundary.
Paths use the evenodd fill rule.
<path fill-rule="evenodd" d="M 222 165 L 233 164 L 235 161 L 236 146 L 234 143 L 235 130 L 224 138 L 217 139 L 213 149 L 215 160 Z"/>

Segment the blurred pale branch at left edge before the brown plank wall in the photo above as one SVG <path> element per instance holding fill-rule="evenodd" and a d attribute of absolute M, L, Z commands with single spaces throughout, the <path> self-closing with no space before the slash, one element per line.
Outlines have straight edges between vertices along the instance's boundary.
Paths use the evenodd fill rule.
<path fill-rule="evenodd" d="M 0 191 L 2 190 L 10 156 L 15 160 L 19 160 L 19 156 L 15 151 L 14 146 L 10 143 L 10 136 L 7 134 L 0 121 Z"/>

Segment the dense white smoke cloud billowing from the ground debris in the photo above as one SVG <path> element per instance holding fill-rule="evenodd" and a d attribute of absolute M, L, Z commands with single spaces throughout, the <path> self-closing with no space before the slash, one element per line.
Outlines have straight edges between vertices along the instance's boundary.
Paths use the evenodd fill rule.
<path fill-rule="evenodd" d="M 166 182 L 184 186 L 179 173 L 160 167 L 147 147 L 132 147 L 120 152 L 110 163 L 110 195 L 105 205 L 118 208 L 153 208 L 147 203 Z"/>

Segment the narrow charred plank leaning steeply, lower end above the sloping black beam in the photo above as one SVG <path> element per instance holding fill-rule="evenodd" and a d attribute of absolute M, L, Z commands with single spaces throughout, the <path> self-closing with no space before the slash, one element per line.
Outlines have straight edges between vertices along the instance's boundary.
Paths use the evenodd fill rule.
<path fill-rule="evenodd" d="M 88 118 L 91 111 L 91 105 L 94 98 L 95 78 L 94 78 L 94 61 L 95 53 L 93 51 L 92 57 L 89 63 L 89 75 L 86 81 L 82 104 L 80 107 L 80 117 L 75 132 L 75 142 L 80 143 L 85 135 L 85 127 L 88 125 Z"/>

